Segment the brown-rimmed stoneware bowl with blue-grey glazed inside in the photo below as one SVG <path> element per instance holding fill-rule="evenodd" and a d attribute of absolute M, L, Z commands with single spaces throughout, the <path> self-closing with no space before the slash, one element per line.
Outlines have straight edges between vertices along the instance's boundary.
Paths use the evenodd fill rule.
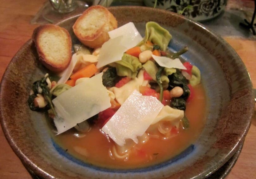
<path fill-rule="evenodd" d="M 145 23 L 155 21 L 173 35 L 169 48 L 188 46 L 182 55 L 200 68 L 208 96 L 206 125 L 194 144 L 163 163 L 139 169 L 107 169 L 68 155 L 51 138 L 44 114 L 27 105 L 33 81 L 46 69 L 37 60 L 32 40 L 10 62 L 1 83 L 1 124 L 12 149 L 42 178 L 205 178 L 238 150 L 254 110 L 253 89 L 245 65 L 221 37 L 200 24 L 165 10 L 112 7 L 118 24 L 134 22 L 144 36 Z M 72 25 L 78 16 L 59 23 L 77 41 Z"/>

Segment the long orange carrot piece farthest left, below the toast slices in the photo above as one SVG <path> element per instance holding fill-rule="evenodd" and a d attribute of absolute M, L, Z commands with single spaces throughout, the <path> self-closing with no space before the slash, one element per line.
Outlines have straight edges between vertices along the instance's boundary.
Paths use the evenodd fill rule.
<path fill-rule="evenodd" d="M 90 78 L 91 76 L 93 76 L 95 73 L 97 72 L 97 67 L 94 64 L 88 65 L 82 69 L 80 69 L 79 71 L 77 71 L 76 73 L 74 73 L 73 75 L 70 76 L 70 78 L 72 80 L 77 80 L 79 78 Z"/>

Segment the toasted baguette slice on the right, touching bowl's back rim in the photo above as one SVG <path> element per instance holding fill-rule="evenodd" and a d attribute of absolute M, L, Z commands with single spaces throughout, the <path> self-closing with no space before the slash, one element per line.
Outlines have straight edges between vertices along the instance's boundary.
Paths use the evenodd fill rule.
<path fill-rule="evenodd" d="M 116 18 L 103 6 L 91 6 L 73 25 L 77 38 L 91 48 L 101 47 L 109 39 L 108 32 L 116 28 Z"/>

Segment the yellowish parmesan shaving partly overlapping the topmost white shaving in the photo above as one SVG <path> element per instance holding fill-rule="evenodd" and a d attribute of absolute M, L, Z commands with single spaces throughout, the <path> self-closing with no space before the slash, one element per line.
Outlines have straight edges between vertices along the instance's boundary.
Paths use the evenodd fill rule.
<path fill-rule="evenodd" d="M 99 52 L 99 59 L 96 65 L 97 68 L 101 68 L 107 64 L 122 59 L 126 47 L 121 45 L 121 39 L 123 36 L 118 36 L 113 39 L 109 39 L 105 42 Z"/>

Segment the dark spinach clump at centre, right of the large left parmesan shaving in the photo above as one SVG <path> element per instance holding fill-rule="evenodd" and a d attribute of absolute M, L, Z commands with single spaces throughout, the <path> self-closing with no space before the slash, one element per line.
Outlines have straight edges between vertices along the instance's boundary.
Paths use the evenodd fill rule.
<path fill-rule="evenodd" d="M 109 67 L 106 72 L 103 72 L 102 83 L 106 87 L 113 87 L 121 78 L 117 75 L 115 67 Z"/>

